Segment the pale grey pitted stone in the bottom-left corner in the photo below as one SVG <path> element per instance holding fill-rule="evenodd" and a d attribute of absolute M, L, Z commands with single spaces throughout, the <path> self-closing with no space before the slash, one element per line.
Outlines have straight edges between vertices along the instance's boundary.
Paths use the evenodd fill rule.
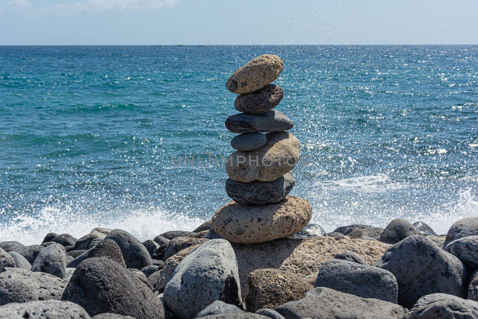
<path fill-rule="evenodd" d="M 0 319 L 90 319 L 85 309 L 73 302 L 39 300 L 0 307 Z"/>

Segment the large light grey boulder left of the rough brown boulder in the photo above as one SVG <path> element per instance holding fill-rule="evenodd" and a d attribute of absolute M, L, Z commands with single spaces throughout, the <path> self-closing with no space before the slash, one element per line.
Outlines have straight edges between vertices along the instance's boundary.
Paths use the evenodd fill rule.
<path fill-rule="evenodd" d="M 185 256 L 164 287 L 164 304 L 178 319 L 195 318 L 215 300 L 242 308 L 236 255 L 224 239 L 208 241 Z"/>

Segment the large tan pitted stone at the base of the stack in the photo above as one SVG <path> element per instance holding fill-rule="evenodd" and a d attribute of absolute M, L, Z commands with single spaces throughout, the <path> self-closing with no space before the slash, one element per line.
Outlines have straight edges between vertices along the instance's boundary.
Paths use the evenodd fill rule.
<path fill-rule="evenodd" d="M 230 242 L 251 244 L 287 238 L 303 229 L 311 218 L 309 202 L 295 196 L 257 206 L 231 201 L 214 214 L 212 227 Z"/>

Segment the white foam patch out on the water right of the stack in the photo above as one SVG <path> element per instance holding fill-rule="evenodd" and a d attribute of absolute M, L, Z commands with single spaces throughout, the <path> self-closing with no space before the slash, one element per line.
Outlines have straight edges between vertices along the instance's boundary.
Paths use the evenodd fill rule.
<path fill-rule="evenodd" d="M 406 184 L 394 182 L 387 174 L 358 176 L 337 181 L 316 182 L 314 186 L 321 186 L 328 190 L 342 189 L 358 192 L 381 193 L 388 190 L 406 187 Z"/>

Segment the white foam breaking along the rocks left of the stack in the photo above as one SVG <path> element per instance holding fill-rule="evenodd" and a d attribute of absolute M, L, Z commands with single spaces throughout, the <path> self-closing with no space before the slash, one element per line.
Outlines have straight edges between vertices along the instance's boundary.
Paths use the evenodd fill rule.
<path fill-rule="evenodd" d="M 120 228 L 138 240 L 153 239 L 165 231 L 192 231 L 205 220 L 163 209 L 133 210 L 128 213 L 107 212 L 93 216 L 76 214 L 72 209 L 45 207 L 36 216 L 18 216 L 0 223 L 0 242 L 19 241 L 38 244 L 48 232 L 69 233 L 79 238 L 95 227 Z"/>

